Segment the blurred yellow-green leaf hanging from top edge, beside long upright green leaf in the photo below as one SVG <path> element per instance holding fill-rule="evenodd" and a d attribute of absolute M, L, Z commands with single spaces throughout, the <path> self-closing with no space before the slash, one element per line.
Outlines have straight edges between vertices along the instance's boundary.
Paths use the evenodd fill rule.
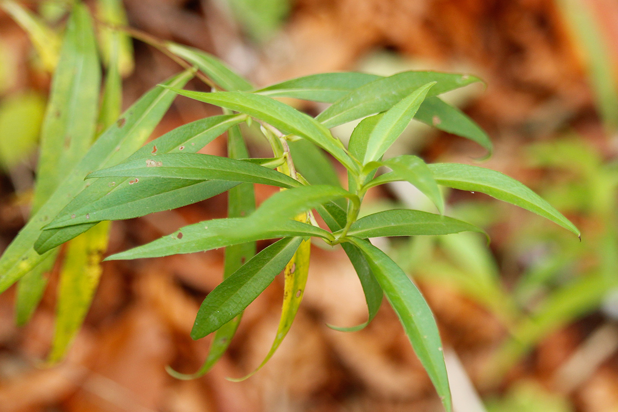
<path fill-rule="evenodd" d="M 133 71 L 133 43 L 129 35 L 121 30 L 114 30 L 108 25 L 123 27 L 127 23 L 127 13 L 125 12 L 122 0 L 97 0 L 96 14 L 99 21 L 103 22 L 99 26 L 99 40 L 101 44 L 101 54 L 103 61 L 109 67 L 117 65 L 122 77 L 127 77 Z M 114 51 L 113 48 L 117 50 Z M 112 55 L 117 53 L 116 61 Z"/>

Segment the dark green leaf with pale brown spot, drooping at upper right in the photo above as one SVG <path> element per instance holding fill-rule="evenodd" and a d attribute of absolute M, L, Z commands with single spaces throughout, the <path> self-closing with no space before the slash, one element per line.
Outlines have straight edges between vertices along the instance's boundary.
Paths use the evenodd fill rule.
<path fill-rule="evenodd" d="M 444 132 L 468 138 L 475 141 L 489 151 L 493 149 L 491 140 L 485 130 L 466 116 L 462 111 L 450 104 L 444 103 L 442 99 L 432 96 L 423 101 L 418 107 L 414 118 L 430 126 L 444 130 Z"/>

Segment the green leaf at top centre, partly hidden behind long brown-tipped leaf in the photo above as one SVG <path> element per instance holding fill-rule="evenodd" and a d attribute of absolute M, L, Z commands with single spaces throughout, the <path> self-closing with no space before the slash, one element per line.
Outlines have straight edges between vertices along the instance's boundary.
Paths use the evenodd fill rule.
<path fill-rule="evenodd" d="M 344 72 L 321 73 L 286 80 L 253 93 L 270 97 L 286 97 L 332 103 L 350 91 L 378 80 L 373 74 Z"/>

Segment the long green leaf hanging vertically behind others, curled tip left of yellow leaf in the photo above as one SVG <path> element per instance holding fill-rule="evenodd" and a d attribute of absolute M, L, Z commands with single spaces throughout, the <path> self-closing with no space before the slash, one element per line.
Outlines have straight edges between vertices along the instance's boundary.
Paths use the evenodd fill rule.
<path fill-rule="evenodd" d="M 227 132 L 227 155 L 232 159 L 241 159 L 249 156 L 247 146 L 243 141 L 240 128 L 238 126 L 232 127 Z M 227 216 L 228 217 L 242 217 L 248 216 L 255 210 L 255 193 L 253 185 L 250 183 L 242 183 L 228 192 L 227 197 Z M 249 259 L 255 255 L 255 242 L 241 243 L 240 245 L 227 246 L 224 258 L 223 279 L 227 279 L 235 271 Z M 234 319 L 221 326 L 213 337 L 213 342 L 210 344 L 208 350 L 208 356 L 204 364 L 193 374 L 182 374 L 174 371 L 174 369 L 167 366 L 166 370 L 171 376 L 178 379 L 195 379 L 197 377 L 205 375 L 214 364 L 221 358 L 221 356 L 227 350 L 232 338 L 236 334 L 236 330 L 240 324 L 242 318 L 242 312 L 239 313 Z"/>

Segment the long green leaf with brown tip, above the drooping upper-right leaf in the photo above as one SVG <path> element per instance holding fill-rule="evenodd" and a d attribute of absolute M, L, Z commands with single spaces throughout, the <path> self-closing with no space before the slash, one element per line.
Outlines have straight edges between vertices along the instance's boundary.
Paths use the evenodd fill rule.
<path fill-rule="evenodd" d="M 438 82 L 428 92 L 428 96 L 435 96 L 480 80 L 468 75 L 402 72 L 391 77 L 379 78 L 342 96 L 321 112 L 316 120 L 330 128 L 362 119 L 390 109 L 405 96 L 430 82 Z"/>

